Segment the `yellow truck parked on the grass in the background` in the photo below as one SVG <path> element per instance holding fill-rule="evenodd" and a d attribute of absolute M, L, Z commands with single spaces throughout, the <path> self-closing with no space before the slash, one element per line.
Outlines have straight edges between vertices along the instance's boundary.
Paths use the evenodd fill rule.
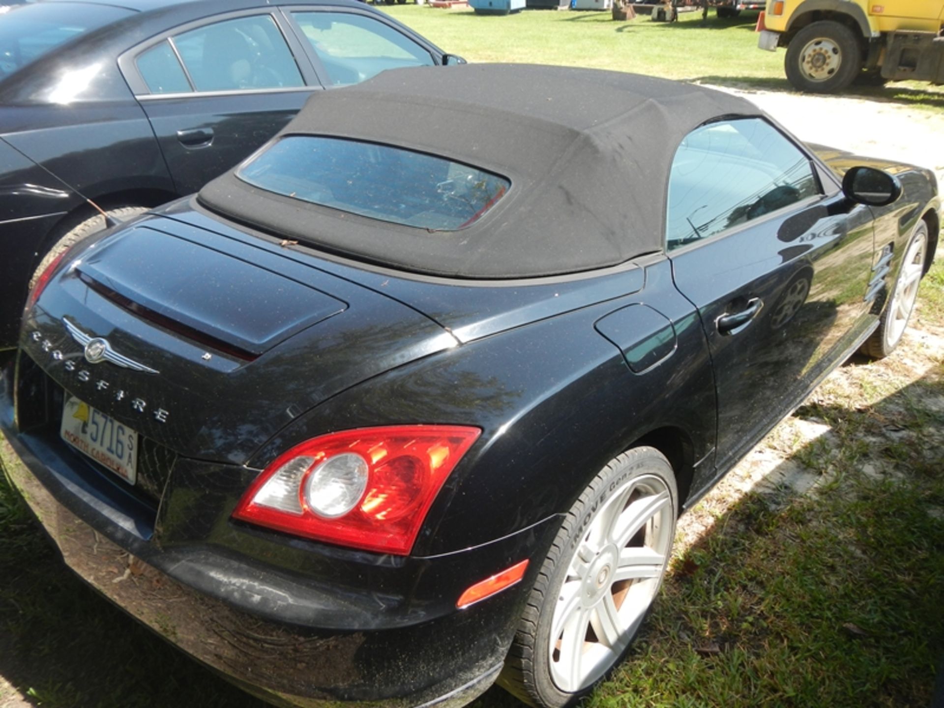
<path fill-rule="evenodd" d="M 801 91 L 835 93 L 860 77 L 944 83 L 944 0 L 767 0 L 761 49 L 786 47 Z"/>

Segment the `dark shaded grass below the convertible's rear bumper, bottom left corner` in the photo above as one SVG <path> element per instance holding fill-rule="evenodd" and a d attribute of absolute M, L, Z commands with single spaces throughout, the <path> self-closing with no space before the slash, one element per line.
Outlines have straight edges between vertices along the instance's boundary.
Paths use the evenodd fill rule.
<path fill-rule="evenodd" d="M 100 598 L 0 474 L 0 676 L 51 708 L 263 708 Z M 9 703 L 5 702 L 9 700 Z M 4 696 L 0 704 L 24 705 Z"/>

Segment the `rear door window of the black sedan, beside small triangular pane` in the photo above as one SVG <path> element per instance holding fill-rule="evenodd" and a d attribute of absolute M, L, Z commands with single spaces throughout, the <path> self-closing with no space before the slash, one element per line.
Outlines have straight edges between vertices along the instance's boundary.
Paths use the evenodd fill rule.
<path fill-rule="evenodd" d="M 173 42 L 196 91 L 305 85 L 295 58 L 271 15 L 206 25 L 178 35 Z"/>

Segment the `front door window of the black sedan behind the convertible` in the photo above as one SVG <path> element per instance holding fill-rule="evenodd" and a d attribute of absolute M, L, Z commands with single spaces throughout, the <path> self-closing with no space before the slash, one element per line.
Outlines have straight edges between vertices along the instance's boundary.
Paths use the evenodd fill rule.
<path fill-rule="evenodd" d="M 404 66 L 431 66 L 432 56 L 393 27 L 351 12 L 293 12 L 334 86 L 360 83 Z"/>

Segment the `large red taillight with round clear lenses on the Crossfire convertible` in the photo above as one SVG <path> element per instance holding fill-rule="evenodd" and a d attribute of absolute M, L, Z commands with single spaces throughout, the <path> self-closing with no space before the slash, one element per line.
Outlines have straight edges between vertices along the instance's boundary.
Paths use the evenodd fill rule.
<path fill-rule="evenodd" d="M 406 555 L 478 428 L 391 426 L 314 438 L 280 455 L 233 518 L 319 541 Z"/>

